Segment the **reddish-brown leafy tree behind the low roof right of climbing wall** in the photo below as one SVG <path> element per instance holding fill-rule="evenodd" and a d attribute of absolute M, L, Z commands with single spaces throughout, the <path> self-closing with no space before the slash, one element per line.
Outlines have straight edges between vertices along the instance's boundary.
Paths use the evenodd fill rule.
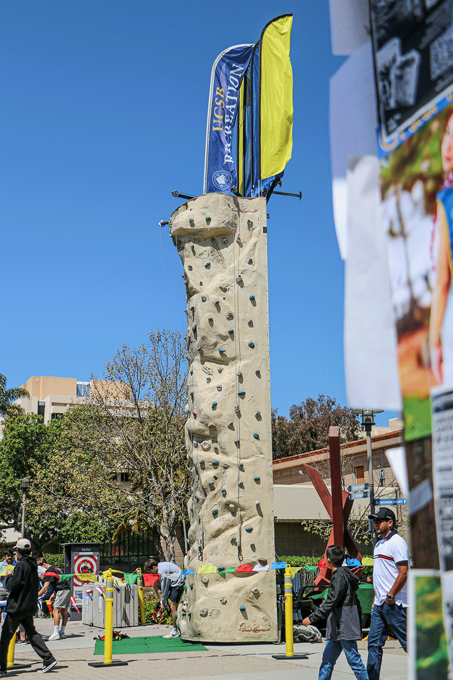
<path fill-rule="evenodd" d="M 308 397 L 289 409 L 289 420 L 272 411 L 272 458 L 297 456 L 329 445 L 329 427 L 340 427 L 344 441 L 361 436 L 361 425 L 352 409 L 341 407 L 331 396 L 319 394 L 317 401 Z"/>

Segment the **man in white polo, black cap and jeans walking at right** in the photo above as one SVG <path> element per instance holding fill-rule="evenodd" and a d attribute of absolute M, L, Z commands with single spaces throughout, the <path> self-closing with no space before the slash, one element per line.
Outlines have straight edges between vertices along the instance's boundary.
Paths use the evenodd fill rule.
<path fill-rule="evenodd" d="M 409 571 L 407 543 L 395 529 L 393 510 L 382 507 L 373 520 L 381 540 L 373 554 L 374 604 L 368 634 L 367 673 L 369 680 L 379 680 L 382 648 L 388 635 L 406 647 L 406 581 Z"/>

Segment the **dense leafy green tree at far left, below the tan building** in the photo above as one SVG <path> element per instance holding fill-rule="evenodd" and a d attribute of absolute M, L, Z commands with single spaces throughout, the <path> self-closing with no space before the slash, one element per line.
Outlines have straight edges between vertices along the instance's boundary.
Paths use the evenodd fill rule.
<path fill-rule="evenodd" d="M 104 541 L 117 526 L 113 519 L 116 485 L 111 471 L 92 452 L 72 446 L 76 409 L 44 425 L 35 414 L 7 420 L 0 441 L 0 516 L 5 528 L 20 530 L 20 480 L 29 479 L 25 536 L 34 551 L 52 543 Z M 93 502 L 95 498 L 95 502 Z"/>

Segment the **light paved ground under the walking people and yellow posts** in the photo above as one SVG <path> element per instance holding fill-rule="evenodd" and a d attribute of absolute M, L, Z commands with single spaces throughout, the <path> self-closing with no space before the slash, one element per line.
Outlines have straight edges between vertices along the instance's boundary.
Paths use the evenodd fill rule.
<path fill-rule="evenodd" d="M 54 628 L 50 619 L 35 619 L 37 630 L 48 636 Z M 94 656 L 94 639 L 103 634 L 103 629 L 85 626 L 80 622 L 69 622 L 64 640 L 46 643 L 54 653 L 58 664 L 50 671 L 61 673 L 65 680 L 84 680 L 96 677 L 99 680 L 143 680 L 153 677 L 158 680 L 316 680 L 324 649 L 323 644 L 297 643 L 294 652 L 306 655 L 298 661 L 277 661 L 272 654 L 285 653 L 285 645 L 204 645 L 208 651 L 179 651 L 154 654 L 118 655 L 113 658 L 128 661 L 128 666 L 92 668 L 89 661 L 101 661 Z M 130 637 L 165 635 L 166 626 L 137 626 L 122 628 Z M 366 664 L 367 643 L 359 643 L 363 662 Z M 31 668 L 8 671 L 8 676 L 20 677 L 34 673 L 41 668 L 41 660 L 30 645 L 16 645 L 17 663 L 31 663 Z M 355 676 L 342 654 L 333 671 L 333 678 L 344 680 Z M 382 680 L 407 680 L 407 655 L 397 642 L 386 643 L 382 662 Z M 22 678 L 22 680 L 26 680 Z"/>

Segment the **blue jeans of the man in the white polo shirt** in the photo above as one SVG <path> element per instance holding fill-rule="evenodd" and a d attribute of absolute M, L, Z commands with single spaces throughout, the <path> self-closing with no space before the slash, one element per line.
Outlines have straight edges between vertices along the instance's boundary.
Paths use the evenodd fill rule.
<path fill-rule="evenodd" d="M 406 645 L 406 608 L 402 605 L 374 605 L 368 633 L 367 671 L 369 680 L 379 680 L 382 647 L 387 636 L 396 638 L 404 651 Z"/>

